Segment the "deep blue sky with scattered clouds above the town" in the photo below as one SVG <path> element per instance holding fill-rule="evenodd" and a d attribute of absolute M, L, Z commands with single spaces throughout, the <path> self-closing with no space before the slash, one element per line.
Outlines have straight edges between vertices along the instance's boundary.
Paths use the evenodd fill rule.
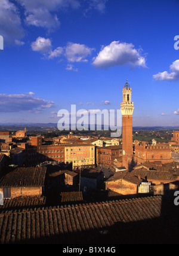
<path fill-rule="evenodd" d="M 134 126 L 179 126 L 178 12 L 177 0 L 1 0 L 0 123 L 119 109 L 128 78 Z"/>

